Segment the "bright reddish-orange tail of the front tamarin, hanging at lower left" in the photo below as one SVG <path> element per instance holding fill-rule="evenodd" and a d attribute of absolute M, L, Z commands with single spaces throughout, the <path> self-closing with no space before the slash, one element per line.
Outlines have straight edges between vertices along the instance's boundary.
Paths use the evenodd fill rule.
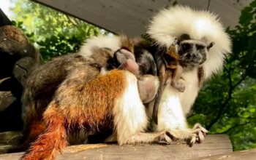
<path fill-rule="evenodd" d="M 28 151 L 23 155 L 23 160 L 56 159 L 56 153 L 67 146 L 67 132 L 64 127 L 64 117 L 57 111 L 56 104 L 50 105 L 45 111 L 44 119 L 47 124 L 46 131 L 39 135 Z"/>

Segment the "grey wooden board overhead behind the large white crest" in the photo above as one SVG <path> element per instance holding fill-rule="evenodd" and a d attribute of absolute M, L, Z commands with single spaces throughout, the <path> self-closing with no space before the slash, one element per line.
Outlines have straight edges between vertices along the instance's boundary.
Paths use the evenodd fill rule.
<path fill-rule="evenodd" d="M 34 0 L 61 12 L 73 15 L 98 25 L 113 33 L 139 36 L 146 31 L 146 25 L 157 10 L 170 6 L 174 0 Z M 241 9 L 252 0 L 212 0 L 210 11 L 219 14 L 225 26 L 238 22 Z M 196 9 L 207 9 L 208 0 L 178 0 Z"/>

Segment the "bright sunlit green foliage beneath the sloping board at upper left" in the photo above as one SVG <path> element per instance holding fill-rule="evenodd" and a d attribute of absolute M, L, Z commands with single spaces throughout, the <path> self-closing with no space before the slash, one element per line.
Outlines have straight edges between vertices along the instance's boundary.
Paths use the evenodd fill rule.
<path fill-rule="evenodd" d="M 29 0 L 12 0 L 15 25 L 25 31 L 29 40 L 39 47 L 44 60 L 77 52 L 90 36 L 107 32 Z"/>

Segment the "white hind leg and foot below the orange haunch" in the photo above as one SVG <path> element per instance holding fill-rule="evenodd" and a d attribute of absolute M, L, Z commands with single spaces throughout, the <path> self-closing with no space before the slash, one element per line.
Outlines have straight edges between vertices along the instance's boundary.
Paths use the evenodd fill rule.
<path fill-rule="evenodd" d="M 144 132 L 148 118 L 145 107 L 140 100 L 138 79 L 128 72 L 126 78 L 127 87 L 124 88 L 124 94 L 116 100 L 113 108 L 118 144 L 161 143 L 162 141 L 170 143 L 172 136 L 168 132 Z"/>

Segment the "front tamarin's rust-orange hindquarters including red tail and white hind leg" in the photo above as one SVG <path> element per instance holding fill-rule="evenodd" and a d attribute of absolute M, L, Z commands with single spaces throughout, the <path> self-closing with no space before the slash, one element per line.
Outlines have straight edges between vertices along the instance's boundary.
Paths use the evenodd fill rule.
<path fill-rule="evenodd" d="M 119 145 L 170 143 L 168 132 L 144 132 L 148 119 L 134 74 L 113 70 L 85 82 L 83 70 L 77 68 L 57 89 L 44 113 L 47 129 L 22 159 L 55 159 L 67 145 L 67 132 L 76 129 L 97 132 L 113 127 Z"/>

